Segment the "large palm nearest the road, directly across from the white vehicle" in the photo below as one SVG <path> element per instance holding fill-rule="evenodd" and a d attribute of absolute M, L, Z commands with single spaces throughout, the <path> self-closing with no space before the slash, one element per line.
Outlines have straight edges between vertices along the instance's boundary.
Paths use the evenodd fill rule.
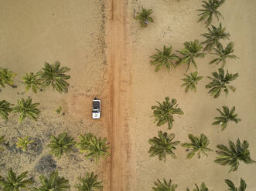
<path fill-rule="evenodd" d="M 153 116 L 155 117 L 155 122 L 157 122 L 156 126 L 162 126 L 168 122 L 168 129 L 172 129 L 173 115 L 183 115 L 184 113 L 178 107 L 176 99 L 172 99 L 172 102 L 169 102 L 169 97 L 165 99 L 166 101 L 163 101 L 162 104 L 156 101 L 159 106 L 152 106 L 151 109 L 154 109 Z"/>

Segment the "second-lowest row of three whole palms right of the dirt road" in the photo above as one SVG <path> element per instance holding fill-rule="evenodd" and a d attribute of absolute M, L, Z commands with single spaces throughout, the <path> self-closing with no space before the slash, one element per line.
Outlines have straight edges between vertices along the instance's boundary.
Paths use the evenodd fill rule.
<path fill-rule="evenodd" d="M 159 160 L 166 161 L 168 155 L 176 159 L 176 154 L 173 152 L 176 150 L 176 146 L 179 145 L 179 141 L 173 141 L 175 134 L 167 134 L 167 132 L 158 132 L 158 137 L 149 139 L 149 144 L 151 145 L 148 153 L 150 157 L 158 156 Z M 186 148 L 186 151 L 189 152 L 187 159 L 192 159 L 193 156 L 197 153 L 198 158 L 200 158 L 201 153 L 207 156 L 207 152 L 213 151 L 207 146 L 210 144 L 210 140 L 204 134 L 200 136 L 193 136 L 189 134 L 190 142 L 185 142 L 181 146 Z M 251 159 L 250 151 L 248 149 L 249 143 L 244 140 L 241 143 L 240 139 L 237 139 L 236 144 L 232 141 L 229 141 L 229 148 L 223 144 L 217 145 L 217 159 L 216 163 L 223 166 L 230 166 L 230 172 L 236 171 L 239 166 L 239 161 L 243 161 L 246 164 L 256 163 Z"/>

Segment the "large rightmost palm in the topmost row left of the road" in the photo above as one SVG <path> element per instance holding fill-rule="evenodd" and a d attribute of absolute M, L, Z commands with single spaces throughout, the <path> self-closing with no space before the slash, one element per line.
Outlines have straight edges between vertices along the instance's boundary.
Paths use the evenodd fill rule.
<path fill-rule="evenodd" d="M 44 86 L 52 85 L 53 89 L 58 92 L 67 92 L 70 85 L 66 80 L 70 79 L 70 75 L 66 75 L 70 69 L 67 67 L 60 67 L 60 62 L 54 62 L 52 65 L 45 62 L 43 71 L 39 72 Z"/>

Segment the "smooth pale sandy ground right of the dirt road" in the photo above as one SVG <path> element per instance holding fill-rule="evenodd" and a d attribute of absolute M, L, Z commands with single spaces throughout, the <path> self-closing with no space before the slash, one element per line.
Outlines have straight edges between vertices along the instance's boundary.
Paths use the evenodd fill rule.
<path fill-rule="evenodd" d="M 210 139 L 210 148 L 216 149 L 217 144 L 227 145 L 228 139 L 235 141 L 247 139 L 250 143 L 251 157 L 256 159 L 256 129 L 255 129 L 255 1 L 227 1 L 220 11 L 225 20 L 223 25 L 230 32 L 230 40 L 235 43 L 235 54 L 240 58 L 230 60 L 227 69 L 230 72 L 239 72 L 239 79 L 233 84 L 237 92 L 230 93 L 227 98 L 220 96 L 213 99 L 207 94 L 204 86 L 209 82 L 207 75 L 217 71 L 217 65 L 209 65 L 213 56 L 206 59 L 197 59 L 198 72 L 204 76 L 199 83 L 197 92 L 183 92 L 181 88 L 183 73 L 186 65 L 167 72 L 161 69 L 154 72 L 149 65 L 149 56 L 155 49 L 162 49 L 163 45 L 173 45 L 175 50 L 183 47 L 183 42 L 193 39 L 203 40 L 200 34 L 206 32 L 203 23 L 197 23 L 196 9 L 200 8 L 201 1 L 175 1 L 175 0 L 134 0 L 128 3 L 127 38 L 129 49 L 132 50 L 131 59 L 131 109 L 129 114 L 129 129 L 131 138 L 131 183 L 129 190 L 151 190 L 155 179 L 172 179 L 179 185 L 178 190 L 192 188 L 194 183 L 204 181 L 210 190 L 227 189 L 224 179 L 231 179 L 239 184 L 240 178 L 247 183 L 247 190 L 255 190 L 255 165 L 241 163 L 235 173 L 228 173 L 227 166 L 220 166 L 213 162 L 216 159 L 214 152 L 210 156 L 197 159 L 186 159 L 186 151 L 178 146 L 176 155 L 178 159 L 168 158 L 166 163 L 157 157 L 148 157 L 148 139 L 157 135 L 159 130 L 167 131 L 167 126 L 156 127 L 152 122 L 151 106 L 155 100 L 161 101 L 166 95 L 178 100 L 179 107 L 185 115 L 176 116 L 173 129 L 176 140 L 186 142 L 187 134 L 200 135 L 205 133 Z M 152 17 L 155 23 L 148 28 L 139 28 L 133 17 L 133 9 L 138 12 L 141 6 L 152 8 Z M 190 69 L 193 71 L 193 69 Z M 190 72 L 189 71 L 189 72 Z M 217 116 L 217 108 L 223 105 L 236 106 L 236 111 L 242 121 L 238 124 L 230 123 L 228 128 L 221 132 L 212 126 L 213 118 Z"/>

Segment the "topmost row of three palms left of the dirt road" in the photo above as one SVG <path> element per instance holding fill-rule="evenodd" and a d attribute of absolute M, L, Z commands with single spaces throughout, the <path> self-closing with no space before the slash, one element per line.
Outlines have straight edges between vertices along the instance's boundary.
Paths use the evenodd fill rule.
<path fill-rule="evenodd" d="M 69 71 L 69 68 L 61 67 L 58 61 L 53 64 L 45 62 L 44 67 L 39 72 L 29 72 L 22 76 L 22 83 L 26 85 L 26 92 L 32 89 L 32 92 L 36 93 L 43 91 L 43 89 L 49 86 L 52 86 L 53 90 L 57 92 L 67 92 L 69 86 L 67 79 L 70 79 L 70 75 L 66 75 L 65 73 Z M 5 88 L 5 85 L 15 88 L 15 75 L 9 69 L 0 69 L 0 85 L 2 88 Z"/>

